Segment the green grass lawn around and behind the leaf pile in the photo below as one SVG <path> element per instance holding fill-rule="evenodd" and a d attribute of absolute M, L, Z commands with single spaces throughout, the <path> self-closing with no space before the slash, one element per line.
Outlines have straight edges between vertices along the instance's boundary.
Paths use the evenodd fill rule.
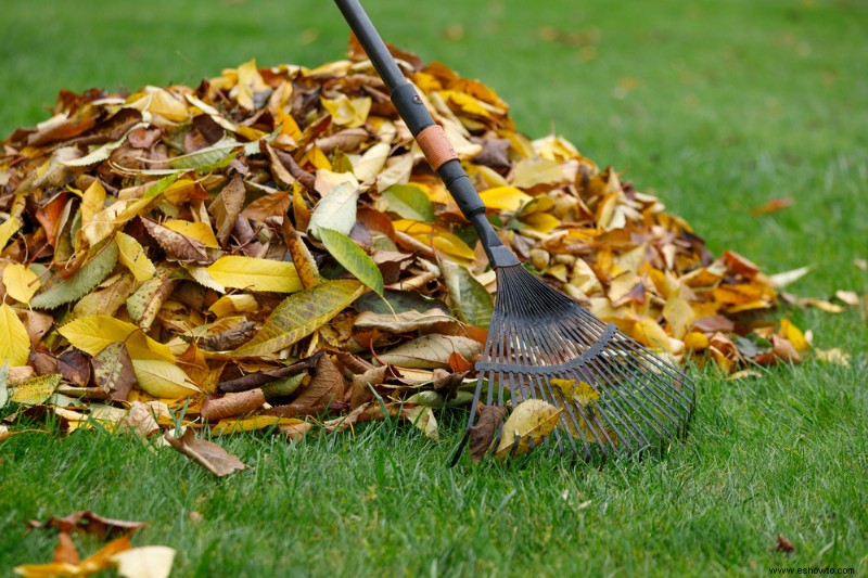
<path fill-rule="evenodd" d="M 768 272 L 813 265 L 799 295 L 865 293 L 853 265 L 868 258 L 865 3 L 368 4 L 390 41 L 494 87 L 524 132 L 553 125 L 626 170 L 714 252 Z M 545 41 L 544 26 L 585 46 Z M 341 57 L 346 37 L 336 9 L 314 0 L 9 0 L 0 133 L 44 119 L 61 88 L 196 84 L 253 56 L 312 66 Z M 751 216 L 780 196 L 795 204 Z M 700 375 L 686 442 L 602 471 L 542 455 L 448 470 L 458 416 L 442 416 L 439 442 L 391 424 L 297 446 L 226 439 L 255 467 L 221 480 L 129 438 L 18 436 L 0 445 L 0 568 L 50 558 L 53 537 L 24 536 L 27 519 L 91 509 L 151 521 L 136 543 L 176 548 L 178 576 L 866 574 L 866 323 L 779 313 L 852 367 Z M 774 552 L 778 532 L 797 552 Z"/>

